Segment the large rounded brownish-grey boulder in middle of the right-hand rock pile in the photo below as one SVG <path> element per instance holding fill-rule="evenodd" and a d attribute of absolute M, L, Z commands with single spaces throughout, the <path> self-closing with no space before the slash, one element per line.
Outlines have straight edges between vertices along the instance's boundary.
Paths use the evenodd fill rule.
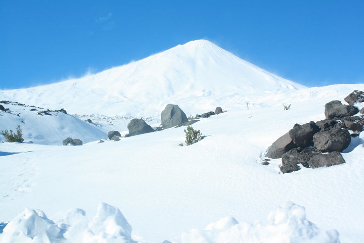
<path fill-rule="evenodd" d="M 313 135 L 314 147 L 320 152 L 342 152 L 349 146 L 350 141 L 348 130 L 342 128 L 333 128 Z"/>

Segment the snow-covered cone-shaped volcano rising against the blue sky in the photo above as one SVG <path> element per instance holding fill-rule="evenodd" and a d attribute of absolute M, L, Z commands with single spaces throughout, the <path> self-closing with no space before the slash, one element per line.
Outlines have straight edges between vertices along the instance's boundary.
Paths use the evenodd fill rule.
<path fill-rule="evenodd" d="M 216 106 L 232 109 L 259 93 L 301 88 L 210 41 L 195 40 L 82 78 L 0 90 L 0 100 L 65 108 L 71 114 L 157 116 L 168 103 L 184 104 L 191 112 Z"/>

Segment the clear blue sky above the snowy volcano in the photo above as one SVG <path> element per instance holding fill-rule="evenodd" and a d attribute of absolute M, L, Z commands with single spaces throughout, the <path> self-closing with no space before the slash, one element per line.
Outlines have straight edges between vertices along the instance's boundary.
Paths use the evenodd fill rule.
<path fill-rule="evenodd" d="M 80 77 L 208 39 L 307 85 L 364 83 L 364 1 L 0 1 L 0 88 Z"/>

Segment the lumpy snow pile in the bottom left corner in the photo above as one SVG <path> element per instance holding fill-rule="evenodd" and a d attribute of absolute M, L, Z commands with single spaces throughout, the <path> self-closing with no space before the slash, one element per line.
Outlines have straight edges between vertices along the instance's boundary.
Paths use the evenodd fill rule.
<path fill-rule="evenodd" d="M 25 209 L 4 228 L 0 242 L 136 243 L 120 210 L 105 203 L 99 204 L 91 221 L 83 210 L 73 209 L 57 224 L 40 210 Z"/>

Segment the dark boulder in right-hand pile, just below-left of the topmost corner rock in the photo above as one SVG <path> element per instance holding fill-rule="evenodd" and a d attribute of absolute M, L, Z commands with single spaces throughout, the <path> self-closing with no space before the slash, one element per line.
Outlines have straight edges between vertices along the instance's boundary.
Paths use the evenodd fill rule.
<path fill-rule="evenodd" d="M 342 105 L 340 101 L 331 101 L 325 105 L 326 119 L 353 116 L 358 112 L 359 110 L 356 107 L 350 105 Z"/>

